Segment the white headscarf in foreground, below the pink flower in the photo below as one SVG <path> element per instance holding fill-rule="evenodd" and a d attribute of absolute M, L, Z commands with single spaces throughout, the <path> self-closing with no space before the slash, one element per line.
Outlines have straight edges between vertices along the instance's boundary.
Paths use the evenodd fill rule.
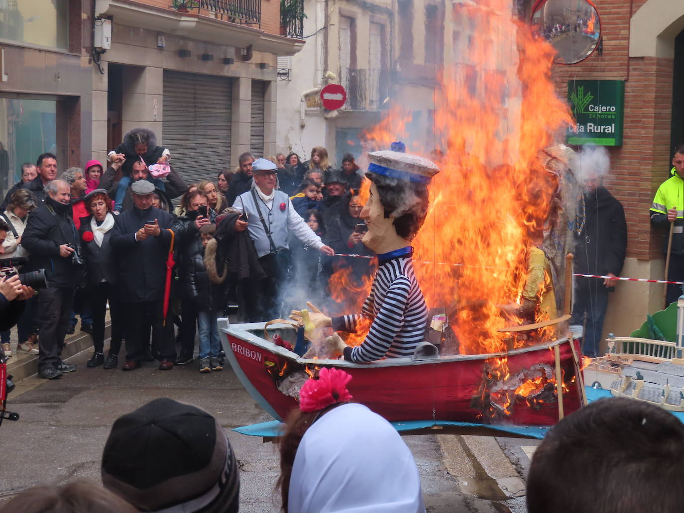
<path fill-rule="evenodd" d="M 411 451 L 362 404 L 330 410 L 309 428 L 292 467 L 288 510 L 297 513 L 424 513 Z"/>

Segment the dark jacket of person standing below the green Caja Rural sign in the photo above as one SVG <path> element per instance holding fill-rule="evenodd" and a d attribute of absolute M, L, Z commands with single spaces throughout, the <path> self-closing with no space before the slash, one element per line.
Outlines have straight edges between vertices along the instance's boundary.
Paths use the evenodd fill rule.
<path fill-rule="evenodd" d="M 627 222 L 622 204 L 605 187 L 584 197 L 586 223 L 575 232 L 575 272 L 620 276 L 627 251 Z M 586 282 L 586 280 L 583 280 Z"/>

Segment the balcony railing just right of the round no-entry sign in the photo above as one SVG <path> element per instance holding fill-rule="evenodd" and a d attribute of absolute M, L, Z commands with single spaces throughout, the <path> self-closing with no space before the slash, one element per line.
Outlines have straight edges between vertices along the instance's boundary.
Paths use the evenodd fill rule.
<path fill-rule="evenodd" d="M 341 85 L 347 91 L 345 110 L 377 111 L 389 96 L 389 70 L 343 68 Z"/>

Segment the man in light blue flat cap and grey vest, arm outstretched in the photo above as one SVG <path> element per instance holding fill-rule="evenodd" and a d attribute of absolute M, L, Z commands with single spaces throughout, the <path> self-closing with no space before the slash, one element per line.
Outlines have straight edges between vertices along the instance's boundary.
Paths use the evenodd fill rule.
<path fill-rule="evenodd" d="M 292 207 L 287 194 L 276 189 L 276 164 L 266 159 L 257 159 L 252 164 L 252 172 L 252 188 L 235 198 L 233 208 L 240 213 L 247 213 L 248 220 L 237 220 L 234 229 L 247 229 L 257 249 L 259 265 L 266 274 L 266 278 L 242 291 L 247 320 L 257 322 L 280 316 L 278 290 L 287 279 L 291 263 L 287 244 L 290 232 L 307 246 L 330 257 L 334 255 L 334 250 L 325 246 L 321 237 L 313 233 Z"/>

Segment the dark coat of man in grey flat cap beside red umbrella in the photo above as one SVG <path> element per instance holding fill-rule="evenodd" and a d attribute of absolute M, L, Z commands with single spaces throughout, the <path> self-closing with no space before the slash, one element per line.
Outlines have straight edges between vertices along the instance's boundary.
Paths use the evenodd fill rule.
<path fill-rule="evenodd" d="M 159 237 L 135 240 L 135 232 L 147 221 L 159 222 Z M 111 228 L 111 246 L 119 263 L 118 286 L 125 302 L 159 301 L 163 298 L 166 279 L 166 259 L 171 243 L 173 216 L 150 207 L 133 208 L 116 216 Z"/>

